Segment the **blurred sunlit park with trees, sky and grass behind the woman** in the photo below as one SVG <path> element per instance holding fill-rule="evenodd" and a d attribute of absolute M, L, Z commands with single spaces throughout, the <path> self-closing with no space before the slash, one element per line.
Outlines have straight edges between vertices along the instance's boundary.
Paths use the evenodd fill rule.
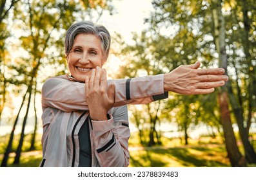
<path fill-rule="evenodd" d="M 108 78 L 168 73 L 201 61 L 230 80 L 208 95 L 129 105 L 130 167 L 256 166 L 256 4 L 253 0 L 1 0 L 0 163 L 37 167 L 41 87 L 68 73 L 75 21 L 112 35 Z"/>

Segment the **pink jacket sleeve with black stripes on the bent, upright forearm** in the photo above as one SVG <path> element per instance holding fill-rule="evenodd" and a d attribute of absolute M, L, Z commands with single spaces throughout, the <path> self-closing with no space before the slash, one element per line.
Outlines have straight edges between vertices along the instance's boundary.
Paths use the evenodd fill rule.
<path fill-rule="evenodd" d="M 101 167 L 128 167 L 130 129 L 127 105 L 113 109 L 110 120 L 92 120 L 95 156 Z"/>

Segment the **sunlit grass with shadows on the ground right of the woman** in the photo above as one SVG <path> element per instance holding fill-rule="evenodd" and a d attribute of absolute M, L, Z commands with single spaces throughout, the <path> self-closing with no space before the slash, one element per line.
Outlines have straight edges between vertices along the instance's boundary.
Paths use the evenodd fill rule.
<path fill-rule="evenodd" d="M 130 167 L 230 167 L 222 145 L 130 151 Z"/>

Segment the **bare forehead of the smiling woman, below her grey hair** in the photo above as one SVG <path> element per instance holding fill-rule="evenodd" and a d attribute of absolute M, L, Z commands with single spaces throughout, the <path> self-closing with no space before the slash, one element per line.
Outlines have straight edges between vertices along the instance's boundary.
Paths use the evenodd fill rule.
<path fill-rule="evenodd" d="M 96 35 L 79 33 L 74 39 L 73 46 L 101 49 L 101 39 Z"/>

